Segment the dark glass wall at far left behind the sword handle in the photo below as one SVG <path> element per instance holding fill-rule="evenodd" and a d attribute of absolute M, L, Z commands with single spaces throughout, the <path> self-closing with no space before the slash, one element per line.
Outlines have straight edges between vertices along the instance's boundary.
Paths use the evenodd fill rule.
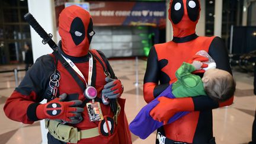
<path fill-rule="evenodd" d="M 24 43 L 31 45 L 30 27 L 23 18 L 27 0 L 0 2 L 0 64 L 23 62 Z"/>

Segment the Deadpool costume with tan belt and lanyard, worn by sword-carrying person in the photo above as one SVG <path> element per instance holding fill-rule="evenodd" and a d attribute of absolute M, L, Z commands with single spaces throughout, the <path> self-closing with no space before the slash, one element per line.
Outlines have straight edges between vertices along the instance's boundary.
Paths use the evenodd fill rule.
<path fill-rule="evenodd" d="M 124 100 L 120 98 L 123 86 L 103 53 L 89 50 L 95 34 L 89 12 L 75 5 L 63 9 L 59 16 L 59 34 L 62 38 L 59 50 L 36 60 L 5 103 L 6 116 L 26 124 L 42 119 L 60 121 L 58 126 L 78 129 L 77 143 L 132 143 L 126 131 Z M 88 87 L 92 89 L 86 91 Z M 40 104 L 44 98 L 47 103 Z M 103 100 L 119 101 L 121 110 L 116 119 L 113 118 L 116 108 Z M 97 113 L 90 109 L 94 104 L 98 104 L 97 110 L 101 109 L 101 120 L 94 120 Z M 80 136 L 82 131 L 84 136 Z M 65 137 L 56 139 L 55 133 L 47 134 L 48 143 L 71 143 L 63 142 Z M 60 133 L 69 136 L 72 132 L 62 130 Z"/>

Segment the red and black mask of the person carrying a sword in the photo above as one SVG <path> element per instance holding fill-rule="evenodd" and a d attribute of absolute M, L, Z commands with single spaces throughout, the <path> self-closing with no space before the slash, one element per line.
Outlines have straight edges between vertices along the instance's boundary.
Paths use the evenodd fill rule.
<path fill-rule="evenodd" d="M 63 9 L 59 15 L 59 34 L 64 53 L 73 57 L 87 55 L 95 34 L 91 15 L 76 5 Z"/>

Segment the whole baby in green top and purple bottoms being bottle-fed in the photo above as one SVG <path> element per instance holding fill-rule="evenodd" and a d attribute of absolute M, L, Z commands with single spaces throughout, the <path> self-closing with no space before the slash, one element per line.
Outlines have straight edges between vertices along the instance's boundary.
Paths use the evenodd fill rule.
<path fill-rule="evenodd" d="M 202 69 L 202 65 L 203 63 L 197 60 L 194 60 L 192 64 L 183 62 L 175 73 L 177 81 L 169 85 L 155 100 L 145 105 L 139 111 L 129 125 L 130 131 L 141 139 L 146 139 L 152 132 L 163 125 L 162 122 L 153 120 L 149 114 L 159 103 L 157 100 L 159 97 L 181 98 L 208 95 L 216 101 L 225 101 L 231 98 L 235 92 L 233 76 L 229 72 L 215 68 L 207 69 L 204 72 L 203 78 L 191 73 Z M 187 113 L 189 112 L 183 111 L 176 113 L 168 120 L 168 124 Z"/>

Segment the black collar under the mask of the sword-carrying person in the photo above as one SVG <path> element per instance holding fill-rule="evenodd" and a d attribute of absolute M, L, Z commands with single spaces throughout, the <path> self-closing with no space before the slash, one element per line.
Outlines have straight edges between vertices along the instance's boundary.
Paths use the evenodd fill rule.
<path fill-rule="evenodd" d="M 58 52 L 67 57 L 68 59 L 70 59 L 73 63 L 83 63 L 83 62 L 88 62 L 89 61 L 89 53 L 86 55 L 86 56 L 81 56 L 81 57 L 73 57 L 73 56 L 69 56 L 69 55 L 66 55 L 65 52 L 63 52 L 62 50 L 62 45 L 61 45 L 61 41 L 59 41 L 59 49 L 58 49 Z"/>

